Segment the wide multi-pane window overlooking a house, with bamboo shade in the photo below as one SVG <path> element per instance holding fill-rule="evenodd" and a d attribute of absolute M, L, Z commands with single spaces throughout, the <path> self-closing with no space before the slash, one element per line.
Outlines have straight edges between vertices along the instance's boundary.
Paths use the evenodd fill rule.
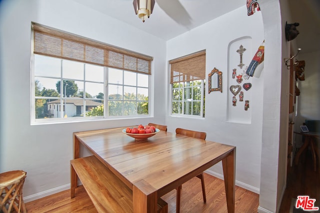
<path fill-rule="evenodd" d="M 38 24 L 33 31 L 33 123 L 148 115 L 152 57 Z"/>

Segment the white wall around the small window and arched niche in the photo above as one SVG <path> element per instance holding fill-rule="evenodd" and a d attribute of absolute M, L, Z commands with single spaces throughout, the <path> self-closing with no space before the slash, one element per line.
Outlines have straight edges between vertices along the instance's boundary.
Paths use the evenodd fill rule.
<path fill-rule="evenodd" d="M 247 38 L 249 39 L 246 40 Z M 228 79 L 230 77 L 228 75 L 232 74 L 232 68 L 237 68 L 237 74 L 240 74 L 244 67 L 249 65 L 263 39 L 261 12 L 247 16 L 246 6 L 242 6 L 169 40 L 166 50 L 167 60 L 171 60 L 205 49 L 206 76 L 214 67 L 222 72 L 222 93 L 215 91 L 208 94 L 206 84 L 205 118 L 192 119 L 168 116 L 166 119 L 168 131 L 174 132 L 177 127 L 204 131 L 207 133 L 207 140 L 236 146 L 236 185 L 256 193 L 259 193 L 260 187 L 264 72 L 261 70 L 263 69 L 263 63 L 257 68 L 257 70 L 260 69 L 259 76 L 250 78 L 252 83 L 249 90 L 251 92 L 250 108 L 248 111 L 244 111 L 242 106 L 238 111 L 244 116 L 243 119 L 232 121 L 228 119 L 228 105 L 232 105 L 229 99 L 232 99 L 233 96 L 229 90 Z M 235 50 L 234 52 L 228 52 L 229 45 L 234 41 L 238 42 L 237 48 L 240 44 L 243 44 L 244 48 L 247 49 L 243 53 L 245 66 L 242 69 L 236 66 L 239 64 L 239 54 Z M 233 61 L 233 64 L 236 64 L 235 66 L 230 65 L 232 64 L 229 61 L 232 59 L 230 54 L 235 54 L 235 61 Z M 258 75 L 258 73 L 256 74 Z M 244 81 L 239 85 L 242 85 Z M 243 88 L 242 91 L 244 91 Z M 167 95 L 170 97 L 170 91 Z M 237 105 L 241 106 L 238 95 L 236 98 Z M 246 98 L 244 97 L 244 100 Z M 247 122 L 248 120 L 249 122 Z M 210 168 L 209 173 L 217 177 L 223 177 L 221 164 Z"/>

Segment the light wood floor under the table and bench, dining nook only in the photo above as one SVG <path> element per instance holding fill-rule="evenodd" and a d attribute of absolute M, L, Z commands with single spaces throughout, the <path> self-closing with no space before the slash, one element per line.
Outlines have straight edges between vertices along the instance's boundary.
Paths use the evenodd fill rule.
<path fill-rule="evenodd" d="M 193 178 L 182 185 L 181 213 L 226 213 L 224 182 L 208 174 L 204 174 L 206 204 L 203 204 L 201 183 Z M 175 213 L 176 191 L 162 197 L 168 203 L 168 212 Z M 235 187 L 235 212 L 256 213 L 259 196 L 240 187 Z M 96 210 L 82 186 L 75 191 L 75 198 L 70 199 L 70 191 L 66 190 L 25 204 L 28 213 L 96 213 Z"/>

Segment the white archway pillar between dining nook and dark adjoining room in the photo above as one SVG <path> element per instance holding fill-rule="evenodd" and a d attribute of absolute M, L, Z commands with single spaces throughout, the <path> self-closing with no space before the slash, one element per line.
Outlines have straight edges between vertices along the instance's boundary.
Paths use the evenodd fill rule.
<path fill-rule="evenodd" d="M 290 45 L 284 38 L 287 1 L 260 1 L 265 49 L 259 213 L 278 211 L 286 186 L 288 135 L 288 71 L 283 58 Z M 283 9 L 280 12 L 280 8 Z"/>

